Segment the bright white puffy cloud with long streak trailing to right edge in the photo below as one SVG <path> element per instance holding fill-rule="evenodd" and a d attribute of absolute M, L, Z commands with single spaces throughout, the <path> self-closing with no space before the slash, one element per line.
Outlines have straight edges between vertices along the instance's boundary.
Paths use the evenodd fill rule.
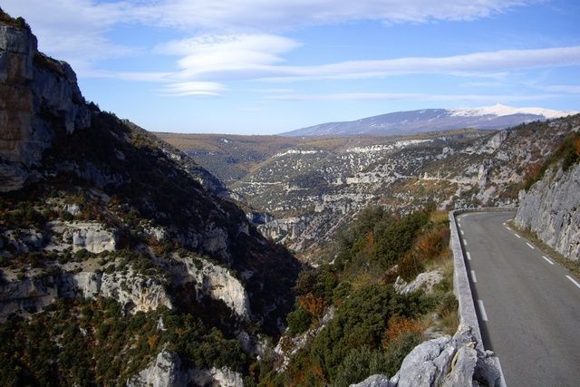
<path fill-rule="evenodd" d="M 580 46 L 573 46 L 287 66 L 280 64 L 282 58 L 279 53 L 289 51 L 298 44 L 275 35 L 207 38 L 203 44 L 171 44 L 173 48 L 170 51 L 185 53 L 187 50 L 183 47 L 188 45 L 191 53 L 179 60 L 182 70 L 175 77 L 213 82 L 369 79 L 418 73 L 504 78 L 505 72 L 514 70 L 580 64 Z"/>

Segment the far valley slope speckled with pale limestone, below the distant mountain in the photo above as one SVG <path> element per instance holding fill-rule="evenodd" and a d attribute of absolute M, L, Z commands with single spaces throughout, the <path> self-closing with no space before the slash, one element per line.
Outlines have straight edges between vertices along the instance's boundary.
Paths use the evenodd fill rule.
<path fill-rule="evenodd" d="M 579 124 L 576 115 L 504 131 L 303 138 L 265 160 L 255 160 L 244 177 L 227 186 L 250 205 L 248 217 L 266 237 L 283 242 L 308 262 L 321 263 L 321 256 L 332 255 L 321 251 L 328 253 L 341 227 L 368 206 L 402 213 L 426 205 L 515 206 L 525 181 Z M 198 137 L 179 138 L 187 136 Z M 170 135 L 162 138 L 179 146 Z M 213 136 L 213 141 L 222 138 Z M 218 160 L 238 157 L 232 156 L 241 147 L 237 141 L 232 137 L 200 160 L 209 170 L 216 169 Z M 192 145 L 182 145 L 181 150 L 203 151 Z"/>

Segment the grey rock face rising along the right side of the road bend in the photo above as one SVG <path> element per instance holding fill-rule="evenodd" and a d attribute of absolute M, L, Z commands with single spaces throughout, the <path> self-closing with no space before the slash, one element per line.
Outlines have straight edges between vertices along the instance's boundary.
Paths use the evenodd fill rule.
<path fill-rule="evenodd" d="M 572 260 L 580 258 L 580 163 L 548 169 L 543 179 L 519 193 L 515 222 Z"/>

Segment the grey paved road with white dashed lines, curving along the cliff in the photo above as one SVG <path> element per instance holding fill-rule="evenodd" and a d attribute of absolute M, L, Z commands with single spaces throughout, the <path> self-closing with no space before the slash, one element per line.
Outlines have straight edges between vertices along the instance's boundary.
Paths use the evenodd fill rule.
<path fill-rule="evenodd" d="M 458 218 L 484 345 L 509 387 L 580 386 L 580 281 L 509 229 L 513 217 Z"/>

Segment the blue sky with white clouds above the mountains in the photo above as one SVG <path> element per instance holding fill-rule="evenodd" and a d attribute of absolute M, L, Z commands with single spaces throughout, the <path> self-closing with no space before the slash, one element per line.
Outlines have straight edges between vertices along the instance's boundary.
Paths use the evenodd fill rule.
<path fill-rule="evenodd" d="M 149 131 L 275 134 L 496 103 L 580 111 L 577 0 L 0 0 Z"/>

